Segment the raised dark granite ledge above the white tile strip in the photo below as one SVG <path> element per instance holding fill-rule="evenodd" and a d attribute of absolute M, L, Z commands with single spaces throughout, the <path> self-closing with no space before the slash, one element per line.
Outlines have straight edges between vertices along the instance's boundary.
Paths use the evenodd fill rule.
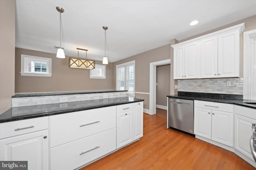
<path fill-rule="evenodd" d="M 70 91 L 70 92 L 17 93 L 14 96 L 12 96 L 12 98 L 71 95 L 71 94 L 113 93 L 113 92 L 127 92 L 127 90 L 89 90 L 89 91 Z"/>

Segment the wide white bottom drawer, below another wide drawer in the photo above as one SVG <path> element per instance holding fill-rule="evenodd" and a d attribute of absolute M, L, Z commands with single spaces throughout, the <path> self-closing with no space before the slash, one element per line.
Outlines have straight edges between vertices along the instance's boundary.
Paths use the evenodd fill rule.
<path fill-rule="evenodd" d="M 72 170 L 116 149 L 116 128 L 50 149 L 51 170 Z"/>

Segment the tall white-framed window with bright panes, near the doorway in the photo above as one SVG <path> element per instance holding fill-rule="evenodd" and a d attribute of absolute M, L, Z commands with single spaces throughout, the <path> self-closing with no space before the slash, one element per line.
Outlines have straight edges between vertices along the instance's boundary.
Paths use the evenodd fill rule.
<path fill-rule="evenodd" d="M 127 96 L 134 97 L 135 91 L 135 61 L 116 66 L 116 89 L 128 90 Z"/>

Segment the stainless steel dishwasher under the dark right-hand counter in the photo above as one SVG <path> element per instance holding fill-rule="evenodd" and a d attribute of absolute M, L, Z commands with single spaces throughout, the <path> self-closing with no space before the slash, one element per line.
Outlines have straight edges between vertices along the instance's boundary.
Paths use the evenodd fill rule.
<path fill-rule="evenodd" d="M 194 135 L 194 100 L 168 98 L 169 127 Z"/>

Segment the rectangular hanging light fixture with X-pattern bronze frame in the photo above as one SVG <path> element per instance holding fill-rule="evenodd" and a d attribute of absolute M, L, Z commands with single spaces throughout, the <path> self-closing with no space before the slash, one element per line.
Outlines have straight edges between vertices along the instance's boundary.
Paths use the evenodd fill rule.
<path fill-rule="evenodd" d="M 95 68 L 95 61 L 87 59 L 87 49 L 78 49 L 77 55 L 78 57 L 70 57 L 68 59 L 68 66 L 71 68 L 87 68 L 87 69 L 94 69 Z M 79 58 L 79 50 L 86 51 L 86 59 Z"/>

